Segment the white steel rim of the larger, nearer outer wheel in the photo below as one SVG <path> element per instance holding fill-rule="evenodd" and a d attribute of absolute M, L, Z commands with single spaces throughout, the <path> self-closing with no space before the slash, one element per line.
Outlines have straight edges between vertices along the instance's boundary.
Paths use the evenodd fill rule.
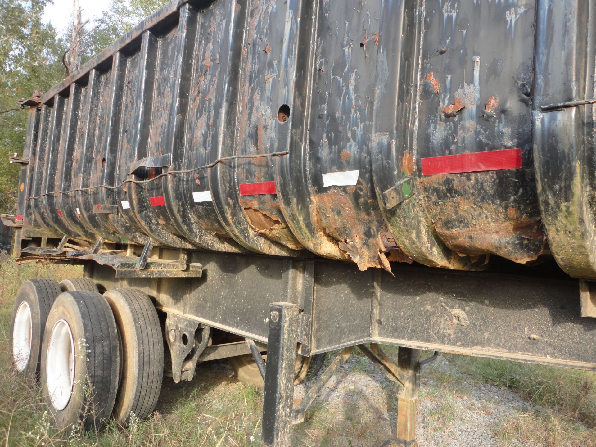
<path fill-rule="evenodd" d="M 69 324 L 60 319 L 52 328 L 46 358 L 49 399 L 58 411 L 68 405 L 74 382 L 75 342 Z"/>

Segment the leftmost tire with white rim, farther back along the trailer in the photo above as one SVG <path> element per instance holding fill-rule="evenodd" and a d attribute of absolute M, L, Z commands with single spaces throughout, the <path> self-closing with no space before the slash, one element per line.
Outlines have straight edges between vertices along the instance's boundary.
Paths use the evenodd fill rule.
<path fill-rule="evenodd" d="M 25 281 L 18 290 L 10 322 L 10 346 L 20 373 L 39 373 L 45 322 L 58 295 L 60 287 L 54 280 Z"/>

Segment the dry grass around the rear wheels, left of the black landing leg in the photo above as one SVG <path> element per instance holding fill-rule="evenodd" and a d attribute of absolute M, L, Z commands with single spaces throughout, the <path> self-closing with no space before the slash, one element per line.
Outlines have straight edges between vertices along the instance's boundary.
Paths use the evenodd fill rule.
<path fill-rule="evenodd" d="M 14 374 L 8 344 L 13 299 L 28 279 L 81 275 L 80 266 L 0 263 L 0 446 L 259 445 L 262 397 L 223 374 L 222 363 L 199 367 L 195 380 L 184 384 L 165 378 L 157 411 L 128 427 L 111 422 L 100 433 L 52 427 L 34 378 Z"/>

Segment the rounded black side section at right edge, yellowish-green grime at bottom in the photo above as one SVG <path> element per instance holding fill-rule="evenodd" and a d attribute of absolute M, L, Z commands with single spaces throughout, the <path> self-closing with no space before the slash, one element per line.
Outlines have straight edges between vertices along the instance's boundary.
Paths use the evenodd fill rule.
<path fill-rule="evenodd" d="M 548 244 L 564 271 L 596 276 L 596 2 L 541 2 L 533 150 Z"/>

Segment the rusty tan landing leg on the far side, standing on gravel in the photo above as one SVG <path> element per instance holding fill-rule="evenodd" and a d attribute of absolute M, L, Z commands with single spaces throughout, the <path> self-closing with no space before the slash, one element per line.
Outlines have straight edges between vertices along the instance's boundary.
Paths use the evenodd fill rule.
<path fill-rule="evenodd" d="M 398 442 L 400 447 L 415 447 L 416 402 L 420 389 L 420 350 L 400 347 L 398 368 L 403 387 L 398 394 Z"/>

